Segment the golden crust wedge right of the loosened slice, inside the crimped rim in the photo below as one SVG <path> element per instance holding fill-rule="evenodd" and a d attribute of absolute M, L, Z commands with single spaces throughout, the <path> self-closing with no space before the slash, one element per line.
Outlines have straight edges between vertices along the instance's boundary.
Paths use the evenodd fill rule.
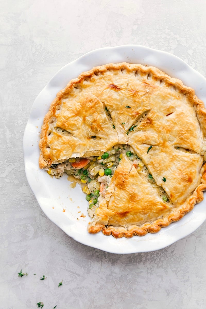
<path fill-rule="evenodd" d="M 174 206 L 178 206 L 201 183 L 203 157 L 180 147 L 175 149 L 168 143 L 164 147 L 151 146 L 133 144 L 156 183 L 162 186 Z"/>

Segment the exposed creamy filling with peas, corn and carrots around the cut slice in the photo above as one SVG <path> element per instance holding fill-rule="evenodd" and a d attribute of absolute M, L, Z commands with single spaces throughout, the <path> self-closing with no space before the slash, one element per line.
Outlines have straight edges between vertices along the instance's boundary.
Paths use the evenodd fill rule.
<path fill-rule="evenodd" d="M 123 154 L 126 154 L 131 166 L 136 168 L 141 178 L 152 184 L 153 189 L 158 192 L 162 201 L 172 205 L 165 190 L 157 185 L 141 158 L 128 144 L 116 144 L 99 156 L 70 158 L 62 163 L 53 164 L 45 170 L 55 178 L 60 178 L 65 172 L 68 176 L 73 176 L 78 180 L 82 186 L 82 191 L 86 193 L 87 212 L 90 217 L 93 217 L 97 212 L 99 202 L 105 198 L 111 178 Z"/>

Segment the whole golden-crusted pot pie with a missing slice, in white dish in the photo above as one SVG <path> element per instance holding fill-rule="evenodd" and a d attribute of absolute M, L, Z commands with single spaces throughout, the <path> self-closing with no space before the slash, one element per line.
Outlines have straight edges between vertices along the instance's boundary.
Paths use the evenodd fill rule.
<path fill-rule="evenodd" d="M 95 67 L 57 93 L 39 166 L 82 185 L 89 233 L 155 233 L 203 200 L 205 116 L 193 89 L 155 67 Z"/>

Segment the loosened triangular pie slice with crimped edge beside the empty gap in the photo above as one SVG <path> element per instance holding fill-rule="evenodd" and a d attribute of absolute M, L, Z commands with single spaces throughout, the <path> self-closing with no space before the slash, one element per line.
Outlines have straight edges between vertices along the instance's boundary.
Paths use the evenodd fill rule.
<path fill-rule="evenodd" d="M 119 232 L 122 237 L 123 231 L 126 237 L 130 237 L 128 227 L 131 226 L 132 233 L 142 235 L 151 222 L 158 219 L 164 222 L 164 217 L 168 217 L 172 209 L 172 204 L 164 202 L 152 184 L 141 178 L 125 154 L 112 176 L 105 197 L 100 200 L 88 231 L 95 233 L 104 228 L 103 233 L 112 231 L 116 237 L 119 237 Z"/>

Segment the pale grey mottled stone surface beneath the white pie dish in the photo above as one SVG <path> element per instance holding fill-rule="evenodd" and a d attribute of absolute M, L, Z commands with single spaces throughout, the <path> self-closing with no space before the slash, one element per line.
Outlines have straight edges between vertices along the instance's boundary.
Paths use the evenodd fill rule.
<path fill-rule="evenodd" d="M 45 309 L 205 308 L 205 223 L 156 252 L 116 255 L 87 247 L 41 211 L 22 150 L 36 96 L 57 70 L 92 49 L 145 45 L 206 76 L 205 14 L 204 0 L 1 2 L 0 308 L 37 308 L 40 301 Z M 18 277 L 21 269 L 29 275 Z"/>

